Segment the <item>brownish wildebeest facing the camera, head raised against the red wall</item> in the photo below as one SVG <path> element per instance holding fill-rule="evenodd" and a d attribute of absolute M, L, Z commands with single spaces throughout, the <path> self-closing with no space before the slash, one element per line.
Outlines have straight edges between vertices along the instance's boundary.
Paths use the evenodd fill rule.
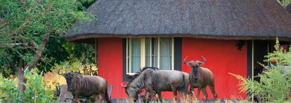
<path fill-rule="evenodd" d="M 209 69 L 200 67 L 203 64 L 205 64 L 206 62 L 205 58 L 201 56 L 204 62 L 194 60 L 194 61 L 190 61 L 186 63 L 185 61 L 187 57 L 184 60 L 184 64 L 192 67 L 190 76 L 189 76 L 189 82 L 190 82 L 190 88 L 192 90 L 194 90 L 194 88 L 198 88 L 197 99 L 199 99 L 200 90 L 202 90 L 202 93 L 204 94 L 204 97 L 205 97 L 204 102 L 205 103 L 207 102 L 208 94 L 206 92 L 206 87 L 208 85 L 213 94 L 214 100 L 216 102 L 217 94 L 214 89 L 214 75 Z M 190 89 L 190 92 L 192 93 L 191 89 Z"/>

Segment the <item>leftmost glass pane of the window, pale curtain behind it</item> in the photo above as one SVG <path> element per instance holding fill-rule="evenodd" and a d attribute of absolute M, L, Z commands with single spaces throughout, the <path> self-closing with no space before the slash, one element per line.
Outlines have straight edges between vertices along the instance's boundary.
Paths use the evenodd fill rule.
<path fill-rule="evenodd" d="M 140 38 L 134 38 L 131 39 L 131 53 L 130 55 L 130 73 L 139 72 L 140 69 L 140 60 L 141 60 L 141 39 Z"/>

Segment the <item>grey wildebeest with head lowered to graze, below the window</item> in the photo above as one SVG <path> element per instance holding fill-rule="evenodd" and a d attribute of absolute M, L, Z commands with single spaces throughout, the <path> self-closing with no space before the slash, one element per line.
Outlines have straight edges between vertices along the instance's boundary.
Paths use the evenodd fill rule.
<path fill-rule="evenodd" d="M 189 91 L 186 89 L 186 78 L 182 72 L 177 70 L 161 70 L 155 67 L 144 67 L 141 73 L 136 73 L 132 76 L 132 79 L 125 86 L 125 92 L 129 99 L 136 101 L 142 89 L 149 91 L 149 95 L 154 102 L 153 91 L 172 91 L 174 99 L 178 98 L 177 90 L 184 98 L 188 95 Z M 145 96 L 146 103 L 149 96 Z"/>

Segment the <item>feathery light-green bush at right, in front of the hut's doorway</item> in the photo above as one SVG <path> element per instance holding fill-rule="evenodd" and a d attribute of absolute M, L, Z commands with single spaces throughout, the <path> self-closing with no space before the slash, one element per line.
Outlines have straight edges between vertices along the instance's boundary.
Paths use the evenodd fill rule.
<path fill-rule="evenodd" d="M 261 95 L 263 102 L 290 102 L 291 75 L 288 74 L 291 73 L 291 68 L 288 66 L 291 64 L 291 48 L 289 48 L 289 52 L 283 51 L 283 48 L 279 48 L 278 38 L 276 40 L 275 48 L 276 51 L 265 56 L 269 59 L 264 61 L 276 62 L 276 65 L 278 66 L 272 65 L 272 69 L 266 69 L 263 71 L 263 74 L 259 74 L 257 77 L 260 78 L 260 82 L 253 81 L 251 78 L 246 79 L 243 76 L 232 73 L 229 74 L 239 79 L 239 89 L 241 92 L 251 93 L 252 95 L 250 98 L 256 95 Z M 284 66 L 288 69 L 283 69 Z M 266 66 L 264 67 L 266 68 Z M 284 73 L 283 70 L 286 73 Z"/>

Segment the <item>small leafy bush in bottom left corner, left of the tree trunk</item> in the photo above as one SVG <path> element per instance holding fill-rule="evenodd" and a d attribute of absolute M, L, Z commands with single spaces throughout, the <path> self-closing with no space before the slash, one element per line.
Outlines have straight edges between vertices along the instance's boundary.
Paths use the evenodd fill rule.
<path fill-rule="evenodd" d="M 16 87 L 17 82 L 11 79 L 0 77 L 0 102 L 18 103 L 19 90 Z"/>

